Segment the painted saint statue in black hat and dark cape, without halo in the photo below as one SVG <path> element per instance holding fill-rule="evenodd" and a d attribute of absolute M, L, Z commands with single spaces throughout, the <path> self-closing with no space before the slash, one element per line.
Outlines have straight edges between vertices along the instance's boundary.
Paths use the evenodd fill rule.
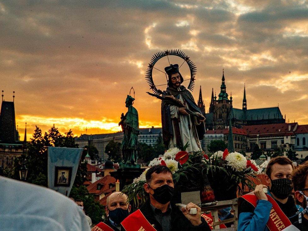
<path fill-rule="evenodd" d="M 167 149 L 174 148 L 174 145 L 183 147 L 188 144 L 187 152 L 202 150 L 199 140 L 203 139 L 205 133 L 205 117 L 191 93 L 181 85 L 184 80 L 179 72 L 179 65 L 171 64 L 165 67 L 165 71 L 168 75 L 168 87 L 163 96 L 180 100 L 182 106 L 162 101 L 163 142 Z"/>

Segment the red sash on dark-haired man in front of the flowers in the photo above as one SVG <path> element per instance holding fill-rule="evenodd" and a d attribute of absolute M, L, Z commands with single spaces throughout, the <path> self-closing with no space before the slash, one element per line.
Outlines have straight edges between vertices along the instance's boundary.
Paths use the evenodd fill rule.
<path fill-rule="evenodd" d="M 144 217 L 140 209 L 126 217 L 121 225 L 126 231 L 157 231 Z"/>

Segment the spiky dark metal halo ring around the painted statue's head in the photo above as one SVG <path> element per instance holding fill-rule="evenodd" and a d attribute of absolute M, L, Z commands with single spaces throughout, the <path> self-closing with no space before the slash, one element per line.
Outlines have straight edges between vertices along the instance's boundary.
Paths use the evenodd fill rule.
<path fill-rule="evenodd" d="M 189 57 L 181 50 L 179 49 L 173 49 L 173 50 L 166 50 L 166 51 L 162 51 L 162 52 L 157 52 L 156 54 L 154 54 L 151 58 L 151 63 L 149 63 L 149 66 L 146 70 L 145 73 L 145 80 L 146 82 L 149 84 L 150 89 L 152 89 L 152 91 L 154 92 L 154 94 L 160 95 L 162 94 L 162 91 L 160 89 L 157 89 L 154 81 L 153 81 L 153 77 L 152 77 L 152 71 L 154 68 L 154 65 L 156 64 L 156 62 L 168 55 L 175 55 L 178 56 L 180 58 L 182 58 L 184 60 L 184 62 L 187 63 L 187 65 L 189 66 L 189 70 L 190 70 L 190 82 L 188 84 L 188 89 L 193 91 L 194 86 L 195 86 L 195 80 L 196 80 L 196 72 L 197 72 L 197 67 L 196 65 L 189 59 Z M 183 62 L 183 63 L 184 63 Z M 170 64 L 169 64 L 170 65 Z M 165 73 L 165 72 L 164 72 Z"/>

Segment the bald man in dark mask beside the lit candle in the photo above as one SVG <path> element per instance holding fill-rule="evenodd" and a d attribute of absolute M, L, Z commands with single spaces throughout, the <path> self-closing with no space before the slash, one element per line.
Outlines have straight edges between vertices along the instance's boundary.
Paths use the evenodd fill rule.
<path fill-rule="evenodd" d="M 92 231 L 118 231 L 121 230 L 121 222 L 128 217 L 131 205 L 127 202 L 127 195 L 114 192 L 107 197 L 105 207 L 107 220 L 100 222 L 92 228 Z"/>

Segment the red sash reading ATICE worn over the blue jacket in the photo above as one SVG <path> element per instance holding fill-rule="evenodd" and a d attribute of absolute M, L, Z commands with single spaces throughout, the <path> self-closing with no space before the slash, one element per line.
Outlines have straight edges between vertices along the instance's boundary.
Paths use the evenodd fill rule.
<path fill-rule="evenodd" d="M 271 231 L 280 231 L 291 225 L 288 217 L 282 212 L 281 208 L 278 206 L 277 202 L 268 194 L 266 194 L 267 200 L 271 202 L 272 208 L 270 211 L 270 218 L 266 223 L 266 226 Z M 246 194 L 242 196 L 243 199 L 247 200 L 254 207 L 257 206 L 257 196 L 254 194 Z"/>

